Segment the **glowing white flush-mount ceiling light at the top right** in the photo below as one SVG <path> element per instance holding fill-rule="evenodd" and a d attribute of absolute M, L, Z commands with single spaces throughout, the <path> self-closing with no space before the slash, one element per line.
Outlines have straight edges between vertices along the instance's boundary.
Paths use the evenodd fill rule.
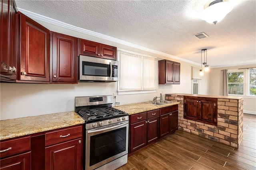
<path fill-rule="evenodd" d="M 215 0 L 205 6 L 204 11 L 201 14 L 201 19 L 208 23 L 216 24 L 221 21 L 233 7 L 232 2 L 227 0 Z"/>

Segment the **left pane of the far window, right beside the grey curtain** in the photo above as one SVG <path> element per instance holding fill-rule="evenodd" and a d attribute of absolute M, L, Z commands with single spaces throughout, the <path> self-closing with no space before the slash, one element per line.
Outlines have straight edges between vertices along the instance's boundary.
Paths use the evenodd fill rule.
<path fill-rule="evenodd" d="M 228 71 L 228 94 L 244 94 L 244 71 Z"/>

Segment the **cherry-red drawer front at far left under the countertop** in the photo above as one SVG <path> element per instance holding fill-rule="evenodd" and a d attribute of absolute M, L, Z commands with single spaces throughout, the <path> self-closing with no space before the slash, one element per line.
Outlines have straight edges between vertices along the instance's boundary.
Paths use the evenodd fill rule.
<path fill-rule="evenodd" d="M 0 143 L 1 158 L 30 150 L 30 136 Z"/>

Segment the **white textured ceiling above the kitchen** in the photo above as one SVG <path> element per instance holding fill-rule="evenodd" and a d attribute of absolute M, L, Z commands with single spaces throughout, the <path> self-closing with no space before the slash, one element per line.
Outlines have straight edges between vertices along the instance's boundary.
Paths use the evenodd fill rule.
<path fill-rule="evenodd" d="M 256 1 L 230 0 L 216 25 L 200 19 L 209 0 L 15 0 L 18 8 L 196 63 L 256 63 Z M 212 0 L 213 1 L 213 0 Z M 209 37 L 196 39 L 196 33 Z"/>

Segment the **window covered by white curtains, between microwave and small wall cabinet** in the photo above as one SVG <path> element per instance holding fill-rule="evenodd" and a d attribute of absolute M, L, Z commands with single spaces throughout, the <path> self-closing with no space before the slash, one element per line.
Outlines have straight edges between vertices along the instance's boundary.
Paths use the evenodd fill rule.
<path fill-rule="evenodd" d="M 158 88 L 158 60 L 156 57 L 119 51 L 118 92 L 146 91 Z"/>

